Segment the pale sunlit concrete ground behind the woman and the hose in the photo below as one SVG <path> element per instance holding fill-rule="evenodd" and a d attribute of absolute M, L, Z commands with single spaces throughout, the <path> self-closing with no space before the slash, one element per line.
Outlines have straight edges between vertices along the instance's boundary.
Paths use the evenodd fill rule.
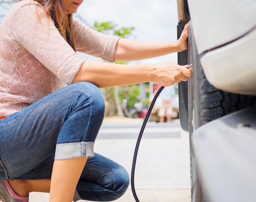
<path fill-rule="evenodd" d="M 124 166 L 131 177 L 133 153 L 142 122 L 142 119 L 105 117 L 94 152 Z M 189 162 L 189 136 L 180 128 L 179 120 L 147 123 L 138 151 L 134 180 L 140 201 L 190 202 Z M 49 193 L 32 192 L 30 201 L 48 202 Z M 130 183 L 116 202 L 133 201 Z"/>

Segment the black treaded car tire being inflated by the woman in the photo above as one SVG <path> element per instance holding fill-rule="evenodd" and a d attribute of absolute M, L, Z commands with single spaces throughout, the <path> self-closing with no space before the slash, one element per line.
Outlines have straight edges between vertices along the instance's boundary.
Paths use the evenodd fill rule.
<path fill-rule="evenodd" d="M 196 165 L 194 148 L 191 145 L 193 131 L 214 119 L 255 105 L 255 96 L 222 91 L 208 82 L 200 63 L 191 26 L 188 39 L 188 63 L 193 64 L 193 73 L 188 80 L 191 202 L 209 202 L 200 170 Z"/>

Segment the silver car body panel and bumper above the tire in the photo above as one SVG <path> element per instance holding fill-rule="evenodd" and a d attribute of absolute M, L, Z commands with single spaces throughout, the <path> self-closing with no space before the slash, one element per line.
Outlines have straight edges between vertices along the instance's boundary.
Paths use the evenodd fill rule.
<path fill-rule="evenodd" d="M 208 81 L 256 95 L 256 0 L 188 0 L 191 25 Z"/>

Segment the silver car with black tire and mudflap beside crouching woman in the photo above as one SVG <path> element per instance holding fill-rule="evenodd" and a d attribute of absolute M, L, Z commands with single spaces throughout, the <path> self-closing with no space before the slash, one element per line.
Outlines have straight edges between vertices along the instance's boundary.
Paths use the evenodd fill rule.
<path fill-rule="evenodd" d="M 256 0 L 177 0 L 177 9 L 177 38 L 190 20 L 178 64 L 193 64 L 179 83 L 191 201 L 256 201 Z"/>

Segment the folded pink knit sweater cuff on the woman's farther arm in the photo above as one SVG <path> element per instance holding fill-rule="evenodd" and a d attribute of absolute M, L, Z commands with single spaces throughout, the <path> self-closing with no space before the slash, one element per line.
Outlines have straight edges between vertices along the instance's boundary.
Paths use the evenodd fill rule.
<path fill-rule="evenodd" d="M 103 53 L 101 56 L 102 59 L 107 60 L 109 62 L 115 62 L 114 53 L 115 53 L 116 44 L 121 38 L 122 37 L 120 36 L 118 37 L 118 36 L 110 35 L 109 40 L 107 41 L 106 47 L 103 50 Z"/>

